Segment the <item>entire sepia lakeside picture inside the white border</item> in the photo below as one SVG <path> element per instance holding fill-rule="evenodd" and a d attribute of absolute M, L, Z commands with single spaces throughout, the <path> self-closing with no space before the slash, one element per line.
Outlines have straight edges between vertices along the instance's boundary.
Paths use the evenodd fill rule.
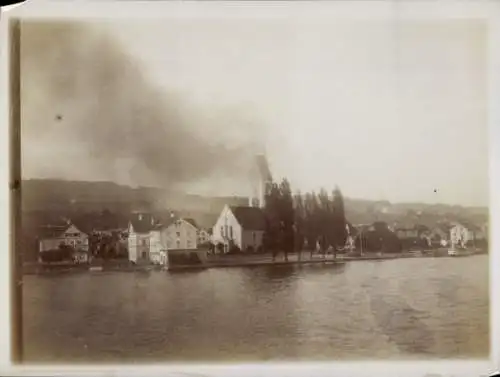
<path fill-rule="evenodd" d="M 270 14 L 11 21 L 19 362 L 490 358 L 487 22 Z"/>

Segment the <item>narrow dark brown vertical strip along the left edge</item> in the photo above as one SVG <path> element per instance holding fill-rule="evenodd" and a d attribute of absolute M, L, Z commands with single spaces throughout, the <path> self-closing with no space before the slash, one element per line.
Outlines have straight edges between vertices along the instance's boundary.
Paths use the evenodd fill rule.
<path fill-rule="evenodd" d="M 11 358 L 23 360 L 22 249 L 21 249 L 21 87 L 19 19 L 9 21 L 10 46 L 10 268 L 11 268 Z"/>

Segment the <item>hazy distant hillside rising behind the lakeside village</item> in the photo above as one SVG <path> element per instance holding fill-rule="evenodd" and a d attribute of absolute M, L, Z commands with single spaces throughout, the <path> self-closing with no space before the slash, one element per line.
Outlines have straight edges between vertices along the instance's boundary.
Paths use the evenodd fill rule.
<path fill-rule="evenodd" d="M 126 223 L 131 210 L 148 207 L 156 213 L 169 211 L 193 218 L 210 228 L 225 204 L 246 205 L 245 197 L 203 197 L 158 188 L 131 188 L 111 182 L 25 180 L 22 182 L 22 247 L 26 260 L 36 260 L 38 229 L 68 217 L 95 225 L 100 213 L 112 212 Z M 488 220 L 487 208 L 465 208 L 422 203 L 390 203 L 345 198 L 347 219 L 353 224 L 385 221 L 389 224 L 431 225 L 438 221 L 466 220 L 478 225 Z M 90 220 L 89 220 L 90 219 Z"/>

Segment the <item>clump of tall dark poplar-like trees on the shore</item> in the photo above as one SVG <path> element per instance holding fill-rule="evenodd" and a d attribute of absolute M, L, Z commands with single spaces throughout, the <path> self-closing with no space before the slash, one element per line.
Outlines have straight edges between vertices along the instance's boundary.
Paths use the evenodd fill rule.
<path fill-rule="evenodd" d="M 348 232 L 344 212 L 344 200 L 338 187 L 331 195 L 325 189 L 318 193 L 292 194 L 285 178 L 281 183 L 271 183 L 265 195 L 264 212 L 266 230 L 264 248 L 271 250 L 273 258 L 283 252 L 317 249 L 325 253 L 332 250 L 334 256 L 344 247 Z"/>

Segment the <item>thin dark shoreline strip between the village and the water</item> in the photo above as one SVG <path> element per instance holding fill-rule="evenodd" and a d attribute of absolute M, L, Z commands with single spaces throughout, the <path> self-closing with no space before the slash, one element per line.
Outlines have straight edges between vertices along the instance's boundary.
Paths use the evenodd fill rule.
<path fill-rule="evenodd" d="M 476 252 L 467 256 L 475 255 L 487 255 L 487 252 Z M 465 257 L 465 256 L 462 256 Z M 337 255 L 336 259 L 333 259 L 331 255 L 323 258 L 321 256 L 315 255 L 312 259 L 309 253 L 304 253 L 301 258 L 298 258 L 298 254 L 290 254 L 288 261 L 283 259 L 283 255 L 280 254 L 279 258 L 274 261 L 269 255 L 255 256 L 255 255 L 245 255 L 245 256 L 225 256 L 219 258 L 210 258 L 202 263 L 196 265 L 174 265 L 174 266 L 158 266 L 158 265 L 131 265 L 125 261 L 108 261 L 101 264 L 82 264 L 73 265 L 71 263 L 61 263 L 61 264 L 41 264 L 33 263 L 26 264 L 23 266 L 23 275 L 52 275 L 52 274 L 65 274 L 65 273 L 103 273 L 103 272 L 150 272 L 150 271 L 168 271 L 168 272 L 178 272 L 178 271 L 196 271 L 196 270 L 208 270 L 208 269 L 218 269 L 218 268 L 241 268 L 241 267 L 264 267 L 264 266 L 307 266 L 307 265 L 329 265 L 329 266 L 343 266 L 348 262 L 361 262 L 361 261 L 385 261 L 394 259 L 408 259 L 408 258 L 457 258 L 454 256 L 449 256 L 447 254 L 439 253 L 437 251 L 431 253 L 401 253 L 401 254 L 371 254 L 363 256 L 347 256 L 343 254 Z M 98 268 L 98 270 L 93 270 Z"/>

